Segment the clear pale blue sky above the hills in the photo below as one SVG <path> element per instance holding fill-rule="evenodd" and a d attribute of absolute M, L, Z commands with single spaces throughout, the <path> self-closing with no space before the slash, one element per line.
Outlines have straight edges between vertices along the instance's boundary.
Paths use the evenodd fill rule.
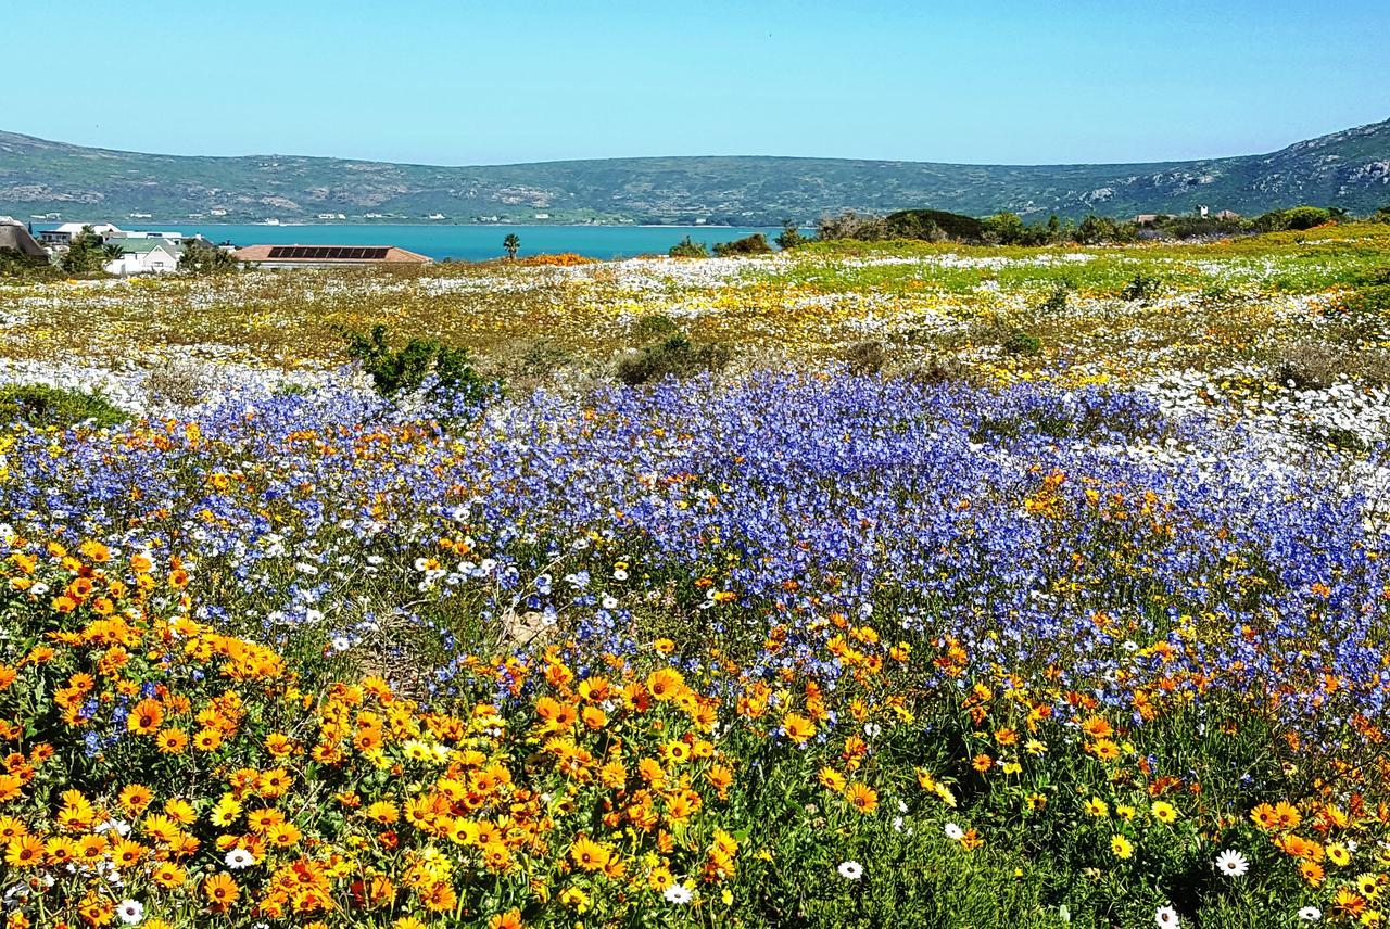
<path fill-rule="evenodd" d="M 1390 0 L 4 6 L 0 129 L 171 154 L 1154 161 L 1390 118 Z"/>

